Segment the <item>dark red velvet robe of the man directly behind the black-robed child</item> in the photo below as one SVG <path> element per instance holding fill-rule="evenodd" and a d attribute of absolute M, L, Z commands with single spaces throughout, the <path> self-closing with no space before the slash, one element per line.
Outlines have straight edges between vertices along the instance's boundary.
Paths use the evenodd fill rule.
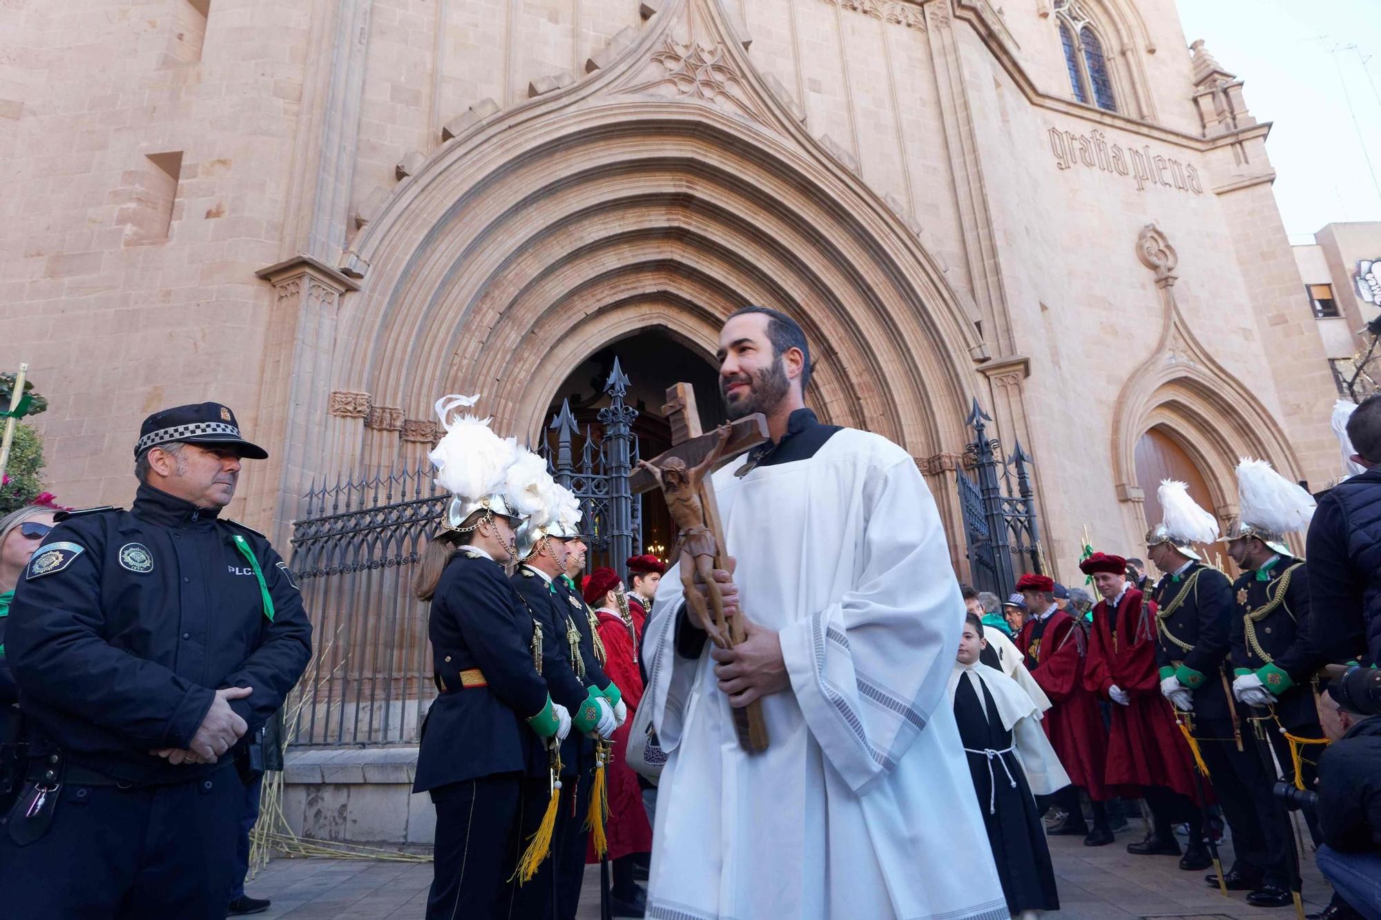
<path fill-rule="evenodd" d="M 1106 801 L 1113 796 L 1103 785 L 1108 732 L 1098 711 L 1098 700 L 1084 689 L 1083 637 L 1076 630 L 1079 623 L 1073 616 L 1055 611 L 1045 623 L 1034 655 L 1030 653 L 1030 644 L 1036 633 L 1036 617 L 1029 617 L 1022 624 L 1015 642 L 1032 678 L 1052 703 L 1041 725 L 1055 756 L 1069 774 L 1069 782 L 1088 793 L 1094 801 Z M 1036 667 L 1030 667 L 1032 660 Z"/>

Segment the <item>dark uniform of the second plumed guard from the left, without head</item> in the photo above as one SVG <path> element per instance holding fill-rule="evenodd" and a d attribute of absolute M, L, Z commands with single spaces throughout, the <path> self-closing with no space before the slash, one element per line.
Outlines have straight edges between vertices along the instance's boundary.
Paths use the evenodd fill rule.
<path fill-rule="evenodd" d="M 583 619 L 565 600 L 565 583 L 561 579 L 547 580 L 544 573 L 529 565 L 519 565 L 512 575 L 512 584 L 518 594 L 528 604 L 533 619 L 541 627 L 541 659 L 543 677 L 547 678 L 547 688 L 551 699 L 565 706 L 574 716 L 586 702 L 590 687 L 594 681 L 586 669 L 586 652 L 580 645 L 580 631 L 577 619 Z M 557 586 L 561 586 L 558 588 Z M 572 648 L 574 641 L 574 648 Z M 537 869 L 537 874 L 518 888 L 514 901 L 515 917 L 525 920 L 544 920 L 547 917 L 573 917 L 579 901 L 579 885 L 570 891 L 570 879 L 566 884 L 558 884 L 558 863 L 562 850 L 558 844 L 562 838 L 574 838 L 584 823 L 586 812 L 580 805 L 580 780 L 594 768 L 594 742 L 572 727 L 566 740 L 561 743 L 561 804 L 557 812 L 557 827 L 552 832 L 552 858 L 547 859 Z M 523 783 L 522 804 L 522 836 L 528 840 L 541 823 L 543 814 L 551 792 L 548 783 L 548 764 L 543 757 L 534 761 Z M 586 782 L 588 793 L 588 782 Z M 586 798 L 588 804 L 588 797 Z M 574 826 L 572 827 L 572 825 Z M 573 845 L 573 844 L 572 844 Z"/>

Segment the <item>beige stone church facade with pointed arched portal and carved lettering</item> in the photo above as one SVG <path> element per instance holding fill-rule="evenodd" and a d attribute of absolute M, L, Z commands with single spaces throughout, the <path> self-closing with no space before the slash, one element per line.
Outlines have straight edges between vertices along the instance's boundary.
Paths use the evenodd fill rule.
<path fill-rule="evenodd" d="M 1221 515 L 1239 456 L 1338 474 L 1269 126 L 1172 0 L 10 0 L 0 35 L 0 365 L 66 503 L 127 503 L 139 419 L 217 399 L 272 453 L 231 511 L 284 540 L 312 481 L 416 466 L 441 394 L 533 441 L 595 351 L 710 362 L 749 303 L 952 535 L 976 396 L 1066 579 L 1084 525 L 1139 548 L 1152 435 Z"/>

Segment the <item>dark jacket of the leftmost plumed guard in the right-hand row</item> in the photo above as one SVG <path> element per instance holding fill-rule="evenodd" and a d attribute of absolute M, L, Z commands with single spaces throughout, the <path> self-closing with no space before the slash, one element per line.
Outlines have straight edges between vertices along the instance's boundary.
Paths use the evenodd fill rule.
<path fill-rule="evenodd" d="M 1161 576 L 1153 597 L 1157 606 L 1156 664 L 1175 671 L 1179 682 L 1193 691 L 1196 718 L 1232 721 L 1224 688 L 1235 611 L 1228 576 L 1201 562 L 1190 562 L 1178 579 Z"/>

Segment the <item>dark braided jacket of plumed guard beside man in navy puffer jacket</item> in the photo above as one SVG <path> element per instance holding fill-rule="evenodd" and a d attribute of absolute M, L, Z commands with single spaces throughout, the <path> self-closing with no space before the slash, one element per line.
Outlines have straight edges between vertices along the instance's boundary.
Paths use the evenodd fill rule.
<path fill-rule="evenodd" d="M 1324 662 L 1301 641 L 1309 620 L 1309 572 L 1301 559 L 1280 555 L 1265 571 L 1244 572 L 1233 582 L 1237 604 L 1232 617 L 1232 664 L 1236 674 L 1268 664 L 1290 680 L 1284 687 L 1268 670 L 1262 684 L 1276 695 L 1276 717 L 1286 728 L 1319 721 L 1311 678 Z"/>

